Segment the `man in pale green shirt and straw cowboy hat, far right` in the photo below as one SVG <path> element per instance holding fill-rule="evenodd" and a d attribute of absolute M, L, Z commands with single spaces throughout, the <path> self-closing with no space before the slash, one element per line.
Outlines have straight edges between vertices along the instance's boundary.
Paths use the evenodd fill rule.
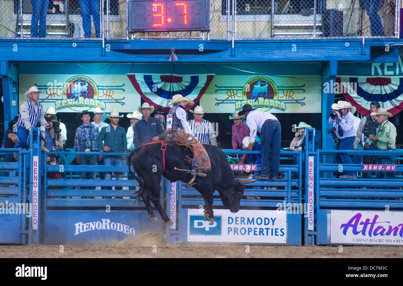
<path fill-rule="evenodd" d="M 396 155 L 393 156 L 393 151 L 396 148 L 396 127 L 389 121 L 388 117 L 392 117 L 392 113 L 388 112 L 384 108 L 378 108 L 376 112 L 372 112 L 372 115 L 376 115 L 376 120 L 380 124 L 376 131 L 376 136 L 369 135 L 371 140 L 376 142 L 378 150 L 388 150 L 392 153 L 389 155 L 378 156 L 376 163 L 382 165 L 395 165 Z M 396 173 L 376 173 L 377 178 L 396 179 Z"/>

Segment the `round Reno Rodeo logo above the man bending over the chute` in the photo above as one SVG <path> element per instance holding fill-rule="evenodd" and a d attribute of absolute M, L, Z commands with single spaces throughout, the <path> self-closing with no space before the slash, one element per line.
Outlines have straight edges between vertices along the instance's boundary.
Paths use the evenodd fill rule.
<path fill-rule="evenodd" d="M 253 108 L 268 108 L 285 111 L 286 104 L 278 100 L 278 88 L 273 80 L 266 76 L 256 76 L 243 86 L 242 99 L 235 102 L 235 110 L 250 104 Z"/>

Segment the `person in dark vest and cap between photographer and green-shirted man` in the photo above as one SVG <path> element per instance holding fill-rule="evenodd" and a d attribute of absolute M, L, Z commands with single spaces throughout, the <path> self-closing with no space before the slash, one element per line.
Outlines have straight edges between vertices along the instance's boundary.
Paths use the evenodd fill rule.
<path fill-rule="evenodd" d="M 377 101 L 372 101 L 370 104 L 371 113 L 376 113 L 380 104 Z M 376 142 L 372 141 L 369 136 L 376 135 L 376 129 L 378 128 L 379 123 L 376 120 L 376 115 L 368 115 L 361 119 L 357 133 L 355 135 L 354 141 L 354 150 L 358 150 L 358 144 L 360 144 L 363 150 L 378 150 L 376 147 Z M 363 138 L 364 137 L 364 138 Z M 369 153 L 369 152 L 368 152 Z M 376 164 L 377 156 L 375 155 L 365 155 L 362 157 L 363 164 Z M 362 177 L 365 179 L 370 179 L 372 177 L 372 173 L 370 172 L 362 172 Z"/>

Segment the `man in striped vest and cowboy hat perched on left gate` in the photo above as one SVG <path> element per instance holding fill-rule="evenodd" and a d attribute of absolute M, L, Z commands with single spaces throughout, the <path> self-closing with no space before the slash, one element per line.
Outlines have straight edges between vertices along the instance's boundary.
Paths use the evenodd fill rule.
<path fill-rule="evenodd" d="M 15 144 L 14 148 L 26 148 L 29 132 L 31 126 L 36 127 L 36 125 L 41 123 L 41 125 L 48 126 L 44 118 L 44 110 L 42 108 L 42 104 L 38 102 L 39 93 L 42 91 L 38 91 L 36 86 L 32 86 L 29 90 L 24 94 L 27 101 L 24 101 L 20 105 L 20 116 L 17 121 L 17 130 L 15 134 L 18 137 L 18 142 Z M 14 153 L 15 160 L 18 161 L 18 153 Z"/>

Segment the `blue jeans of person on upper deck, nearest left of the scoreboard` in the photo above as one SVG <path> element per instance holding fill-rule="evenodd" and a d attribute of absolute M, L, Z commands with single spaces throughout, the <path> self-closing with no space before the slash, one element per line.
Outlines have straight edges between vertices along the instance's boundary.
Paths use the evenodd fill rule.
<path fill-rule="evenodd" d="M 95 37 L 100 37 L 101 20 L 98 0 L 79 0 L 81 17 L 83 18 L 84 37 L 91 38 L 91 14 L 95 27 Z M 91 12 L 90 12 L 91 10 Z"/>

